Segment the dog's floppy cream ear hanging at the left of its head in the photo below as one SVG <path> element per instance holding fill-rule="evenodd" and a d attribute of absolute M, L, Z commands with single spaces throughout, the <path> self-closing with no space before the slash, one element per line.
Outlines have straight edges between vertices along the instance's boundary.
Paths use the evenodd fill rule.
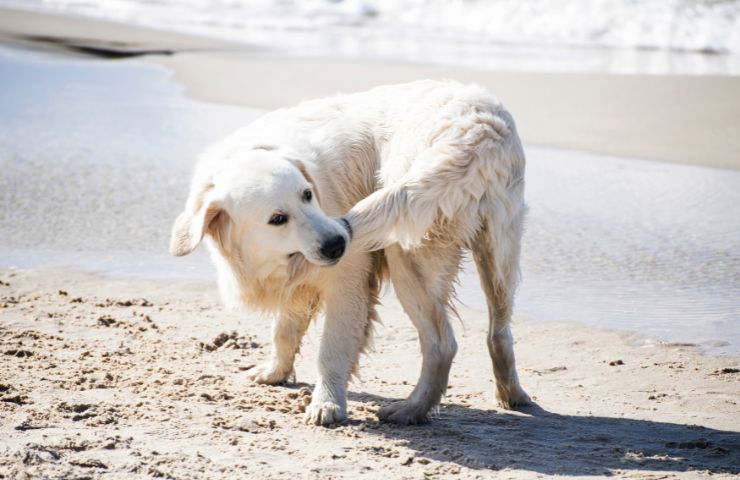
<path fill-rule="evenodd" d="M 208 189 L 205 189 L 208 190 Z M 185 211 L 175 220 L 170 237 L 170 253 L 177 257 L 187 255 L 195 250 L 209 225 L 219 217 L 223 209 L 216 201 L 202 200 L 201 192 L 194 202 L 188 201 Z"/>

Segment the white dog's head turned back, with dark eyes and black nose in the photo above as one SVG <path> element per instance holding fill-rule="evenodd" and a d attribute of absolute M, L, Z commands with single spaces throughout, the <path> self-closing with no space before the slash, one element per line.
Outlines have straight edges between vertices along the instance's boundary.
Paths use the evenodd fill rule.
<path fill-rule="evenodd" d="M 185 211 L 172 229 L 170 252 L 187 255 L 210 236 L 226 258 L 257 277 L 287 266 L 296 255 L 334 265 L 349 231 L 322 211 L 319 196 L 305 165 L 278 149 L 232 153 L 196 171 Z"/>

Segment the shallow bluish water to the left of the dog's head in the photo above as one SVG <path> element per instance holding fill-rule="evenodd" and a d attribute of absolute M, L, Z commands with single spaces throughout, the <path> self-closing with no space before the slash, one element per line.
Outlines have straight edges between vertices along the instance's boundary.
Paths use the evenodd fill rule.
<path fill-rule="evenodd" d="M 0 71 L 3 264 L 210 272 L 168 258 L 169 226 L 197 152 L 261 112 L 191 102 L 166 69 L 125 60 L 4 49 Z"/>

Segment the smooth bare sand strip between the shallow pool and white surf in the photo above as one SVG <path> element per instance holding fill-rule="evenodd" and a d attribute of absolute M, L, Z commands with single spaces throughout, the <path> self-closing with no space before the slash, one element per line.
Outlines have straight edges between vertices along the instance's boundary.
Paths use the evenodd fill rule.
<path fill-rule="evenodd" d="M 272 109 L 384 83 L 455 78 L 479 83 L 501 99 L 526 143 L 740 169 L 740 77 L 498 72 L 371 59 L 290 58 L 103 20 L 6 8 L 0 12 L 0 34 L 6 39 L 31 32 L 37 37 L 44 33 L 42 44 L 53 45 L 56 39 L 57 48 L 66 43 L 76 52 L 87 44 L 123 54 L 165 51 L 140 58 L 170 68 L 196 100 Z M 131 38 L 138 43 L 126 44 Z"/>

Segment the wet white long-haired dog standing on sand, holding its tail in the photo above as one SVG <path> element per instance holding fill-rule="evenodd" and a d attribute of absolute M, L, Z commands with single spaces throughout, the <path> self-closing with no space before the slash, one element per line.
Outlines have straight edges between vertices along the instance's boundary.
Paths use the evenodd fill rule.
<path fill-rule="evenodd" d="M 453 282 L 472 251 L 488 300 L 497 398 L 529 397 L 509 328 L 518 279 L 524 152 L 511 115 L 477 86 L 420 81 L 269 113 L 200 159 L 170 250 L 203 238 L 227 304 L 273 313 L 258 382 L 293 375 L 313 317 L 325 316 L 306 420 L 346 418 L 347 383 L 389 276 L 421 341 L 421 375 L 382 420 L 422 422 L 447 387 L 457 345 Z M 336 220 L 338 219 L 338 220 Z"/>

